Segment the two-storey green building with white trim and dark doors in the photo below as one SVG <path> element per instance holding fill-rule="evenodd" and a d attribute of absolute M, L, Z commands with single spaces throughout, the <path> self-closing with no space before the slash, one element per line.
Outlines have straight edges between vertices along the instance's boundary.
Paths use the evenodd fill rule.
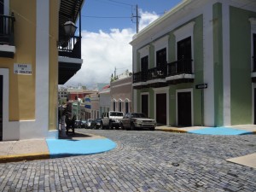
<path fill-rule="evenodd" d="M 255 42 L 256 1 L 183 1 L 131 41 L 134 111 L 162 125 L 255 124 Z"/>

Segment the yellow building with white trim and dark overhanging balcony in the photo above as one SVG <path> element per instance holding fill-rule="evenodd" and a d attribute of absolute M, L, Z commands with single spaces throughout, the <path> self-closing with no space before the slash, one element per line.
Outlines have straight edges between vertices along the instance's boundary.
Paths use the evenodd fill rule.
<path fill-rule="evenodd" d="M 83 63 L 83 3 L 0 0 L 0 141 L 58 137 L 58 84 Z M 67 21 L 79 21 L 78 36 Z"/>

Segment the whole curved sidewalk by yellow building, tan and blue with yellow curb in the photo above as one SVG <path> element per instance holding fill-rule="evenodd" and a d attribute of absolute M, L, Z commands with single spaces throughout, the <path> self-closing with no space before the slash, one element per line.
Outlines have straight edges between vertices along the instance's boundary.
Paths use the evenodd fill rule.
<path fill-rule="evenodd" d="M 98 154 L 116 148 L 106 137 L 82 134 L 61 139 L 30 139 L 0 142 L 0 163 L 22 160 L 44 160 L 84 154 Z"/>

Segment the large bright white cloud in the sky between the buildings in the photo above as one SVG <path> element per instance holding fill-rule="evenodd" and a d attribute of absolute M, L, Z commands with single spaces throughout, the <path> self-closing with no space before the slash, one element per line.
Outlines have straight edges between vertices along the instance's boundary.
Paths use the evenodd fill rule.
<path fill-rule="evenodd" d="M 140 12 L 140 30 L 158 15 Z M 66 85 L 83 84 L 92 88 L 96 83 L 109 83 L 114 68 L 117 74 L 132 70 L 132 47 L 129 44 L 135 32 L 127 29 L 111 29 L 110 32 L 82 32 L 82 59 L 84 63 Z"/>

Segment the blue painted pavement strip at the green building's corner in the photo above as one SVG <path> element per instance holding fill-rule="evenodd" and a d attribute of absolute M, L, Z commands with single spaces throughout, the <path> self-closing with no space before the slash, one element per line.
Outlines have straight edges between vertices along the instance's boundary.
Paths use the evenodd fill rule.
<path fill-rule="evenodd" d="M 237 130 L 229 127 L 207 127 L 195 131 L 188 131 L 189 133 L 202 134 L 202 135 L 222 135 L 222 136 L 236 136 L 253 134 L 251 131 Z"/>

